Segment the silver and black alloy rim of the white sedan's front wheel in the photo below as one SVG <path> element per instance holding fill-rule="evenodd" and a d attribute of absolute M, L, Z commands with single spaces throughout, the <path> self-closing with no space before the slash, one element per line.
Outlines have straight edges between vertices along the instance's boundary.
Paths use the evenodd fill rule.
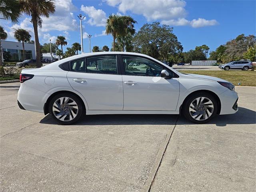
<path fill-rule="evenodd" d="M 208 119 L 214 111 L 212 101 L 206 97 L 198 97 L 194 99 L 189 106 L 190 116 L 198 121 Z"/>

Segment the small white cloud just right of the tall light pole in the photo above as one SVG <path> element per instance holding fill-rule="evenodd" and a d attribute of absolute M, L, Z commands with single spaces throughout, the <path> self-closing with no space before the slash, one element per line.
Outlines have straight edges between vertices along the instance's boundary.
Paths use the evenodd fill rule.
<path fill-rule="evenodd" d="M 81 6 L 81 11 L 89 16 L 88 24 L 95 26 L 106 26 L 106 13 L 94 6 Z"/>

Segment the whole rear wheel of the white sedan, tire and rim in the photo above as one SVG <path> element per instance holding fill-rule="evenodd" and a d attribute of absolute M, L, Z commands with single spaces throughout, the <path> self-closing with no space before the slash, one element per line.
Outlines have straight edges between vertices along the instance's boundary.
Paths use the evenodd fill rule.
<path fill-rule="evenodd" d="M 48 111 L 54 120 L 65 125 L 78 121 L 84 111 L 81 100 L 70 93 L 54 96 L 48 106 Z"/>

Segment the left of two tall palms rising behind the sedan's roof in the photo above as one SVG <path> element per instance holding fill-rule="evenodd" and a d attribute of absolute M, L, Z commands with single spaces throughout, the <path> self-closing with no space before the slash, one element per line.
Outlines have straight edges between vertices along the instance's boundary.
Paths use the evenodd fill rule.
<path fill-rule="evenodd" d="M 106 21 L 106 34 L 112 34 L 113 36 L 113 51 L 116 47 L 116 36 L 123 34 L 124 28 L 120 16 L 112 14 Z"/>

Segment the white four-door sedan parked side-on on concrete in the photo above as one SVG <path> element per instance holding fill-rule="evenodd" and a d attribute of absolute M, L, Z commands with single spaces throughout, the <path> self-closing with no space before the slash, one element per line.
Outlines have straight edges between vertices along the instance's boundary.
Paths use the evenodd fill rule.
<path fill-rule="evenodd" d="M 217 114 L 238 111 L 230 82 L 183 74 L 131 52 L 80 54 L 24 69 L 20 83 L 19 107 L 49 113 L 60 124 L 90 120 L 93 114 L 182 114 L 205 123 Z"/>

